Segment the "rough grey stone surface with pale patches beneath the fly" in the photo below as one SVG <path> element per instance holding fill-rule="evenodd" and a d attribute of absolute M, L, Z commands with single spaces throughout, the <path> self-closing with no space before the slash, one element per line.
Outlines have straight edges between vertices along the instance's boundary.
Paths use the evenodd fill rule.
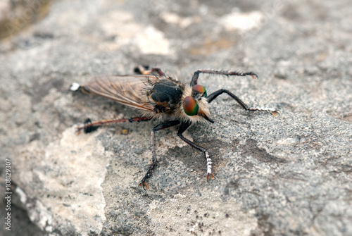
<path fill-rule="evenodd" d="M 347 0 L 54 1 L 46 18 L 0 42 L 0 172 L 11 159 L 17 185 L 11 232 L 352 235 L 351 15 Z M 138 112 L 68 90 L 138 63 L 187 83 L 199 68 L 251 70 L 259 80 L 199 83 L 281 115 L 248 113 L 222 95 L 210 106 L 215 124 L 185 133 L 209 149 L 215 179 L 206 182 L 201 153 L 170 128 L 156 135 L 145 191 L 137 185 L 156 123 L 77 136 L 85 118 Z"/>

